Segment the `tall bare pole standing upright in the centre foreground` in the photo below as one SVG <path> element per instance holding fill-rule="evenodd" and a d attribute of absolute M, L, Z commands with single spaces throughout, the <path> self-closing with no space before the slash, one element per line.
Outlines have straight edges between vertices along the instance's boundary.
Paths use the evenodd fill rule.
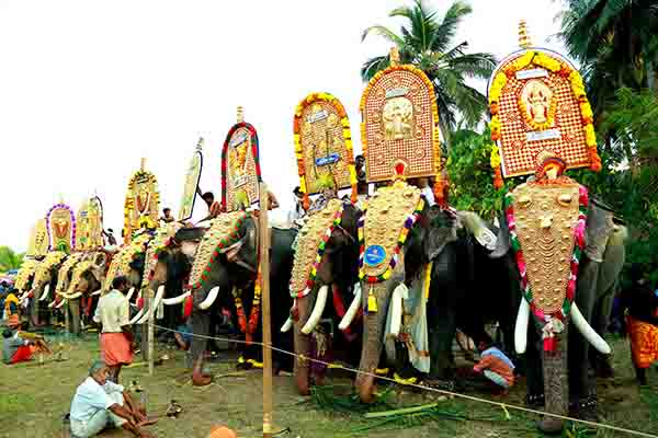
<path fill-rule="evenodd" d="M 272 437 L 272 330 L 270 324 L 270 227 L 268 186 L 259 185 L 259 257 L 261 272 L 261 306 L 263 324 L 263 438 Z"/>

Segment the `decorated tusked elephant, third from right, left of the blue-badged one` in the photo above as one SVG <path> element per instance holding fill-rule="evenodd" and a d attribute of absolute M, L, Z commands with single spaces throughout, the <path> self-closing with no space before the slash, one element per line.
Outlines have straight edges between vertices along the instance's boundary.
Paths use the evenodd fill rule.
<path fill-rule="evenodd" d="M 291 320 L 294 321 L 295 382 L 300 394 L 309 393 L 309 369 L 317 369 L 303 357 L 326 359 L 319 350 L 360 351 L 359 330 L 351 326 L 361 301 L 360 288 L 352 296 L 358 281 L 359 243 L 356 223 L 361 211 L 351 203 L 332 199 L 311 216 L 297 234 L 295 261 L 290 291 L 295 299 Z M 329 301 L 332 306 L 327 306 Z M 348 308 L 347 303 L 352 302 Z M 316 332 L 322 316 L 332 321 L 330 331 L 339 326 L 341 336 Z M 341 321 L 343 320 L 343 321 Z M 358 358 L 352 358 L 356 361 Z M 350 357 L 348 357 L 350 361 Z M 316 376 L 318 378 L 319 376 Z"/>

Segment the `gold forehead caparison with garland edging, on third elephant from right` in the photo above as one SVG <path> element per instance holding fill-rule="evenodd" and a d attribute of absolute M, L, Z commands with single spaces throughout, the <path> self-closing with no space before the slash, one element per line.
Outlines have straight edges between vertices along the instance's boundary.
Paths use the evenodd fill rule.
<path fill-rule="evenodd" d="M 293 298 L 308 295 L 321 263 L 327 242 L 333 228 L 340 224 L 343 203 L 331 199 L 325 208 L 308 218 L 296 240 L 295 260 L 291 277 Z"/>

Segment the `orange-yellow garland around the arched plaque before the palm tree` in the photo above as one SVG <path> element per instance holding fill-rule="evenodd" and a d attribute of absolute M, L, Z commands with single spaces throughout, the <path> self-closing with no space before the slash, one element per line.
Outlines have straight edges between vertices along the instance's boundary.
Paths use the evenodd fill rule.
<path fill-rule="evenodd" d="M 436 200 L 438 204 L 440 205 L 445 205 L 447 203 L 447 199 L 444 199 L 444 194 L 445 194 L 445 182 L 443 181 L 443 175 L 442 175 L 442 166 L 441 166 L 441 139 L 439 136 L 439 106 L 436 105 L 436 94 L 434 93 L 434 84 L 432 83 L 432 81 L 430 81 L 430 79 L 428 78 L 428 76 L 424 73 L 424 71 L 422 71 L 421 69 L 417 68 L 416 66 L 412 65 L 394 65 L 394 66 L 389 66 L 388 68 L 378 71 L 377 73 L 375 73 L 375 76 L 373 77 L 373 79 L 370 80 L 370 82 L 367 83 L 367 85 L 365 87 L 365 90 L 363 91 L 363 94 L 361 95 L 361 101 L 359 103 L 359 110 L 361 111 L 361 114 L 365 114 L 365 103 L 367 100 L 367 96 L 370 95 L 373 87 L 379 81 L 379 79 L 382 79 L 382 77 L 384 77 L 385 74 L 388 74 L 393 71 L 409 71 L 413 74 L 416 74 L 418 78 L 420 78 L 422 80 L 422 82 L 426 84 L 426 87 L 428 88 L 428 91 L 430 92 L 430 110 L 431 110 L 431 114 L 432 114 L 432 123 L 433 123 L 433 127 L 432 127 L 432 147 L 433 147 L 433 152 L 434 152 L 434 168 L 435 168 L 435 184 L 434 184 L 434 198 Z M 366 127 L 365 127 L 365 123 L 362 122 L 361 123 L 361 147 L 363 150 L 363 155 L 366 155 L 367 152 L 367 135 L 366 135 Z"/>

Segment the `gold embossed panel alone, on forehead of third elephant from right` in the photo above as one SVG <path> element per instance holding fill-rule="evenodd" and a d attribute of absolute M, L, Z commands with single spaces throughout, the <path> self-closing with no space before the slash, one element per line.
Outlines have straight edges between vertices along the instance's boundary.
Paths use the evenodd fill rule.
<path fill-rule="evenodd" d="M 331 199 L 322 210 L 308 218 L 308 221 L 299 230 L 291 279 L 291 290 L 295 293 L 306 288 L 310 269 L 318 254 L 318 246 L 341 209 L 342 201 Z"/>

